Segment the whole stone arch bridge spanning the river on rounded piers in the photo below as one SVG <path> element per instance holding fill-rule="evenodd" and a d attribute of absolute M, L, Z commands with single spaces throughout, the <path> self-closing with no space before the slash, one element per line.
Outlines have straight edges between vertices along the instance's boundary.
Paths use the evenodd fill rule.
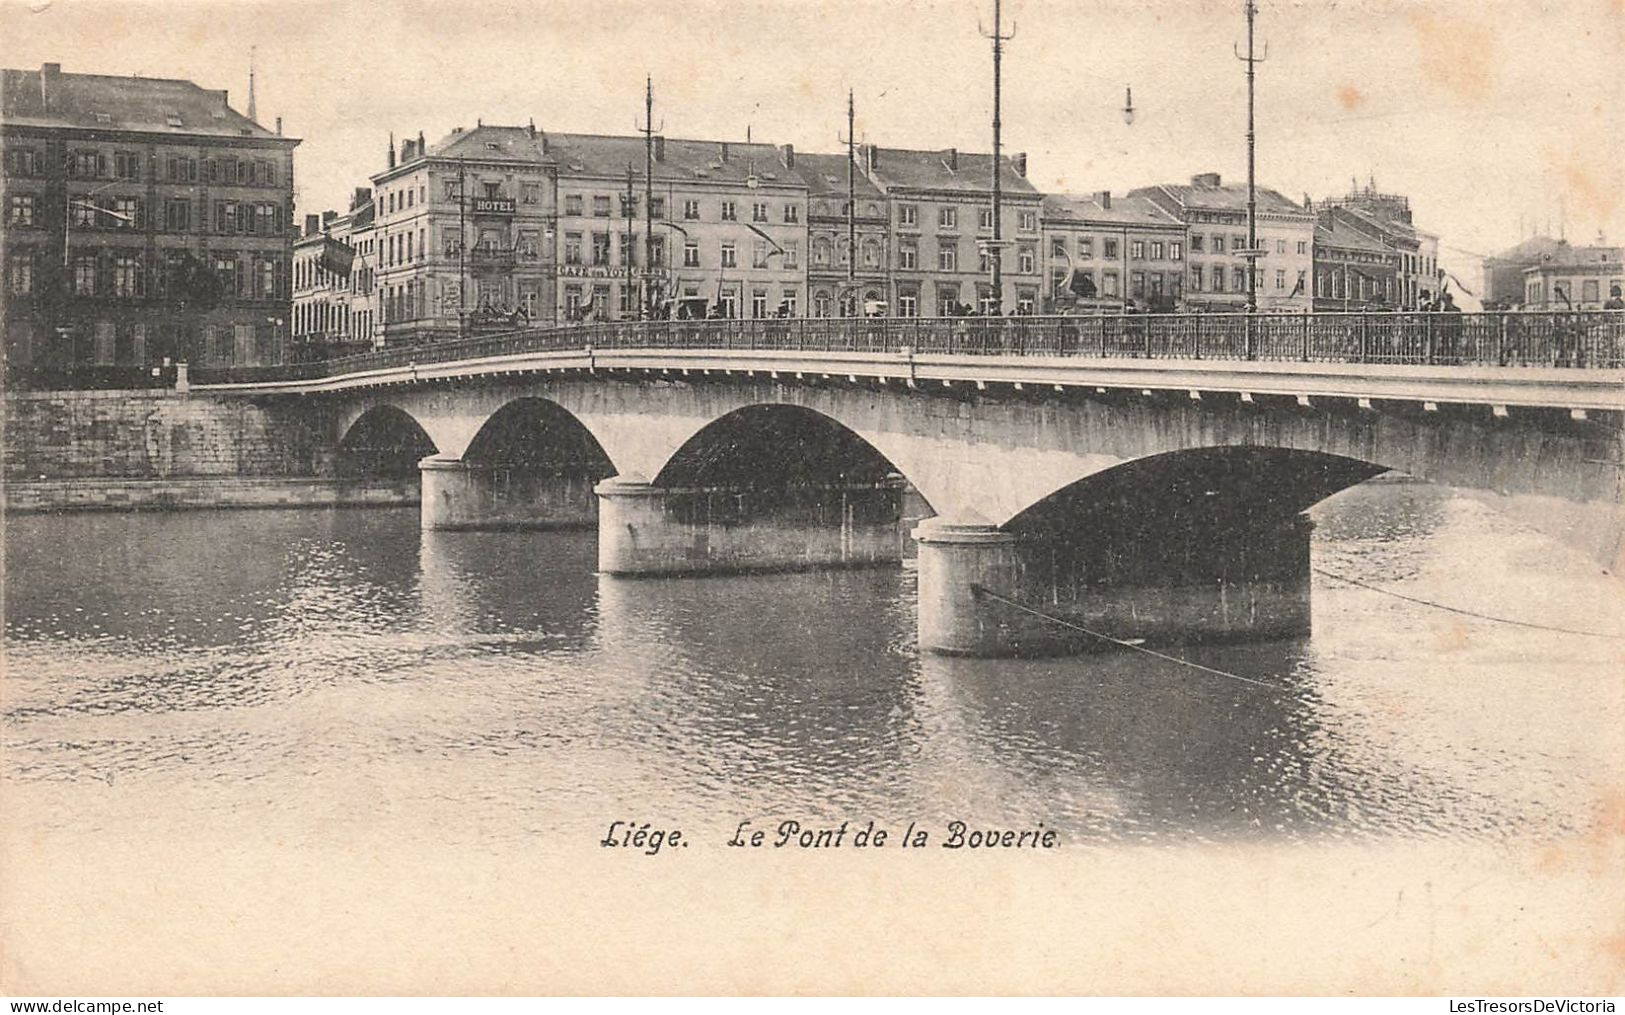
<path fill-rule="evenodd" d="M 895 562 L 915 515 L 921 645 L 1038 653 L 1081 643 L 1011 603 L 1149 640 L 1303 630 L 1302 513 L 1389 469 L 1614 567 L 1622 317 L 1583 365 L 1508 362 L 1505 323 L 1441 362 L 1368 336 L 1259 357 L 1268 335 L 1090 348 L 1043 320 L 656 322 L 206 387 L 299 400 L 344 469 L 419 469 L 426 528 L 596 523 L 613 575 Z"/>

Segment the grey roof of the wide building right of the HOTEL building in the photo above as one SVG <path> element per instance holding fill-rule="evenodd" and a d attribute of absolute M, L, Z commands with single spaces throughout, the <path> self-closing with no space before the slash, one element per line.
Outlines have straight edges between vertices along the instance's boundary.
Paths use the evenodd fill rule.
<path fill-rule="evenodd" d="M 627 166 L 642 175 L 647 159 L 642 135 L 548 133 L 546 143 L 561 177 L 626 177 Z M 803 185 L 772 145 L 656 136 L 655 151 L 656 180 L 746 184 L 754 175 L 762 184 Z"/>

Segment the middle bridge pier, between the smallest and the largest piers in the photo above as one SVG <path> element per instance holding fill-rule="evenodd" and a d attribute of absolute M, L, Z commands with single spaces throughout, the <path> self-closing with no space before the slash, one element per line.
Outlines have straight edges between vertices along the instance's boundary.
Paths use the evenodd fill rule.
<path fill-rule="evenodd" d="M 661 487 L 616 476 L 595 487 L 598 570 L 697 575 L 895 564 L 904 554 L 902 487 Z"/>

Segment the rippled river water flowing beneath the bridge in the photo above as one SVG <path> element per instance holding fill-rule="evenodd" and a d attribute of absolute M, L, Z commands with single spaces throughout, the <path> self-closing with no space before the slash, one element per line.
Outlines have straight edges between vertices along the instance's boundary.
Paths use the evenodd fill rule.
<path fill-rule="evenodd" d="M 1368 484 L 1313 560 L 1466 611 L 1625 630 L 1620 583 L 1493 507 Z M 16 516 L 8 822 L 83 838 L 588 843 L 653 820 L 1043 822 L 1066 841 L 1570 833 L 1618 784 L 1620 641 L 1316 575 L 1313 635 L 921 656 L 915 573 L 593 572 L 592 533 L 414 510 Z"/>

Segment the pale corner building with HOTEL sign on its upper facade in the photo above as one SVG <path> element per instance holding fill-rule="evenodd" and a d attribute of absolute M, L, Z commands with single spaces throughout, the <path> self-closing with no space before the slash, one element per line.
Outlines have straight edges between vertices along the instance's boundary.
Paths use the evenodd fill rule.
<path fill-rule="evenodd" d="M 372 177 L 379 343 L 548 323 L 554 162 L 535 125 L 390 141 Z"/>

